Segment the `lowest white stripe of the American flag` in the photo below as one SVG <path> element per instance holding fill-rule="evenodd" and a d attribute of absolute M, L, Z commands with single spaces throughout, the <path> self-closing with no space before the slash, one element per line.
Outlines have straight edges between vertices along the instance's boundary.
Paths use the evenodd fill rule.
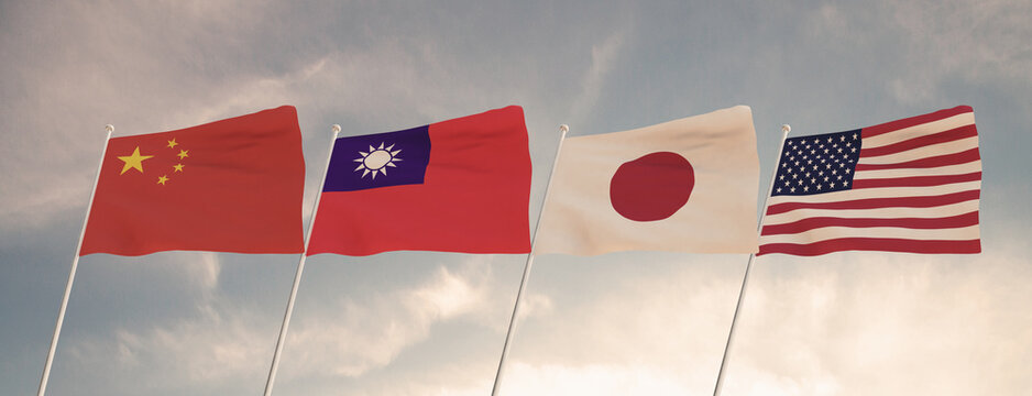
<path fill-rule="evenodd" d="M 898 227 L 825 227 L 795 234 L 760 237 L 760 245 L 768 243 L 816 243 L 841 238 L 892 238 L 923 241 L 968 241 L 978 239 L 978 226 L 955 229 L 904 229 Z"/>

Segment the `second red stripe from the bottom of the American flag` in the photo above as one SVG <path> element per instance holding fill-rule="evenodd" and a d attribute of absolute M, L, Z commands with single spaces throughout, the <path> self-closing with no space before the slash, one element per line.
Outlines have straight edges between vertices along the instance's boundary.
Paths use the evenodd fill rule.
<path fill-rule="evenodd" d="M 934 230 L 970 227 L 978 224 L 978 211 L 945 218 L 922 219 L 844 219 L 834 217 L 814 217 L 786 224 L 764 226 L 761 235 L 781 235 L 810 231 L 824 227 L 897 227 L 905 229 Z"/>

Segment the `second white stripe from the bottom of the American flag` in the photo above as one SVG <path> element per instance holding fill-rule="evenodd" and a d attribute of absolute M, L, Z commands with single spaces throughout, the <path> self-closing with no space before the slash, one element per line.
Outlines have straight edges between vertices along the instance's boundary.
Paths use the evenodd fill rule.
<path fill-rule="evenodd" d="M 931 208 L 877 208 L 877 209 L 795 209 L 783 213 L 766 216 L 764 224 L 777 226 L 797 222 L 814 217 L 835 217 L 843 219 L 934 219 L 959 216 L 978 211 L 978 199 Z"/>

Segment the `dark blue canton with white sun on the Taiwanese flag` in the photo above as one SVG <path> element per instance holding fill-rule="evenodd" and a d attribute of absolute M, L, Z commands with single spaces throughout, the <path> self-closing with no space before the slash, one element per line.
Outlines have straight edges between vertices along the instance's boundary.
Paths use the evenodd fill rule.
<path fill-rule="evenodd" d="M 372 135 L 339 138 L 322 191 L 422 184 L 430 162 L 428 127 Z M 389 176 L 389 177 L 388 177 Z"/>

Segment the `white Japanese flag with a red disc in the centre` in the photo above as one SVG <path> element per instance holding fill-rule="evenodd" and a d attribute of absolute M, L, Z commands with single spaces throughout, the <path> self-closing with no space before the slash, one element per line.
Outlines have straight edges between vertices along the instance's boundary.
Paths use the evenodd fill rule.
<path fill-rule="evenodd" d="M 558 155 L 537 254 L 757 251 L 759 164 L 746 106 L 568 138 Z"/>

